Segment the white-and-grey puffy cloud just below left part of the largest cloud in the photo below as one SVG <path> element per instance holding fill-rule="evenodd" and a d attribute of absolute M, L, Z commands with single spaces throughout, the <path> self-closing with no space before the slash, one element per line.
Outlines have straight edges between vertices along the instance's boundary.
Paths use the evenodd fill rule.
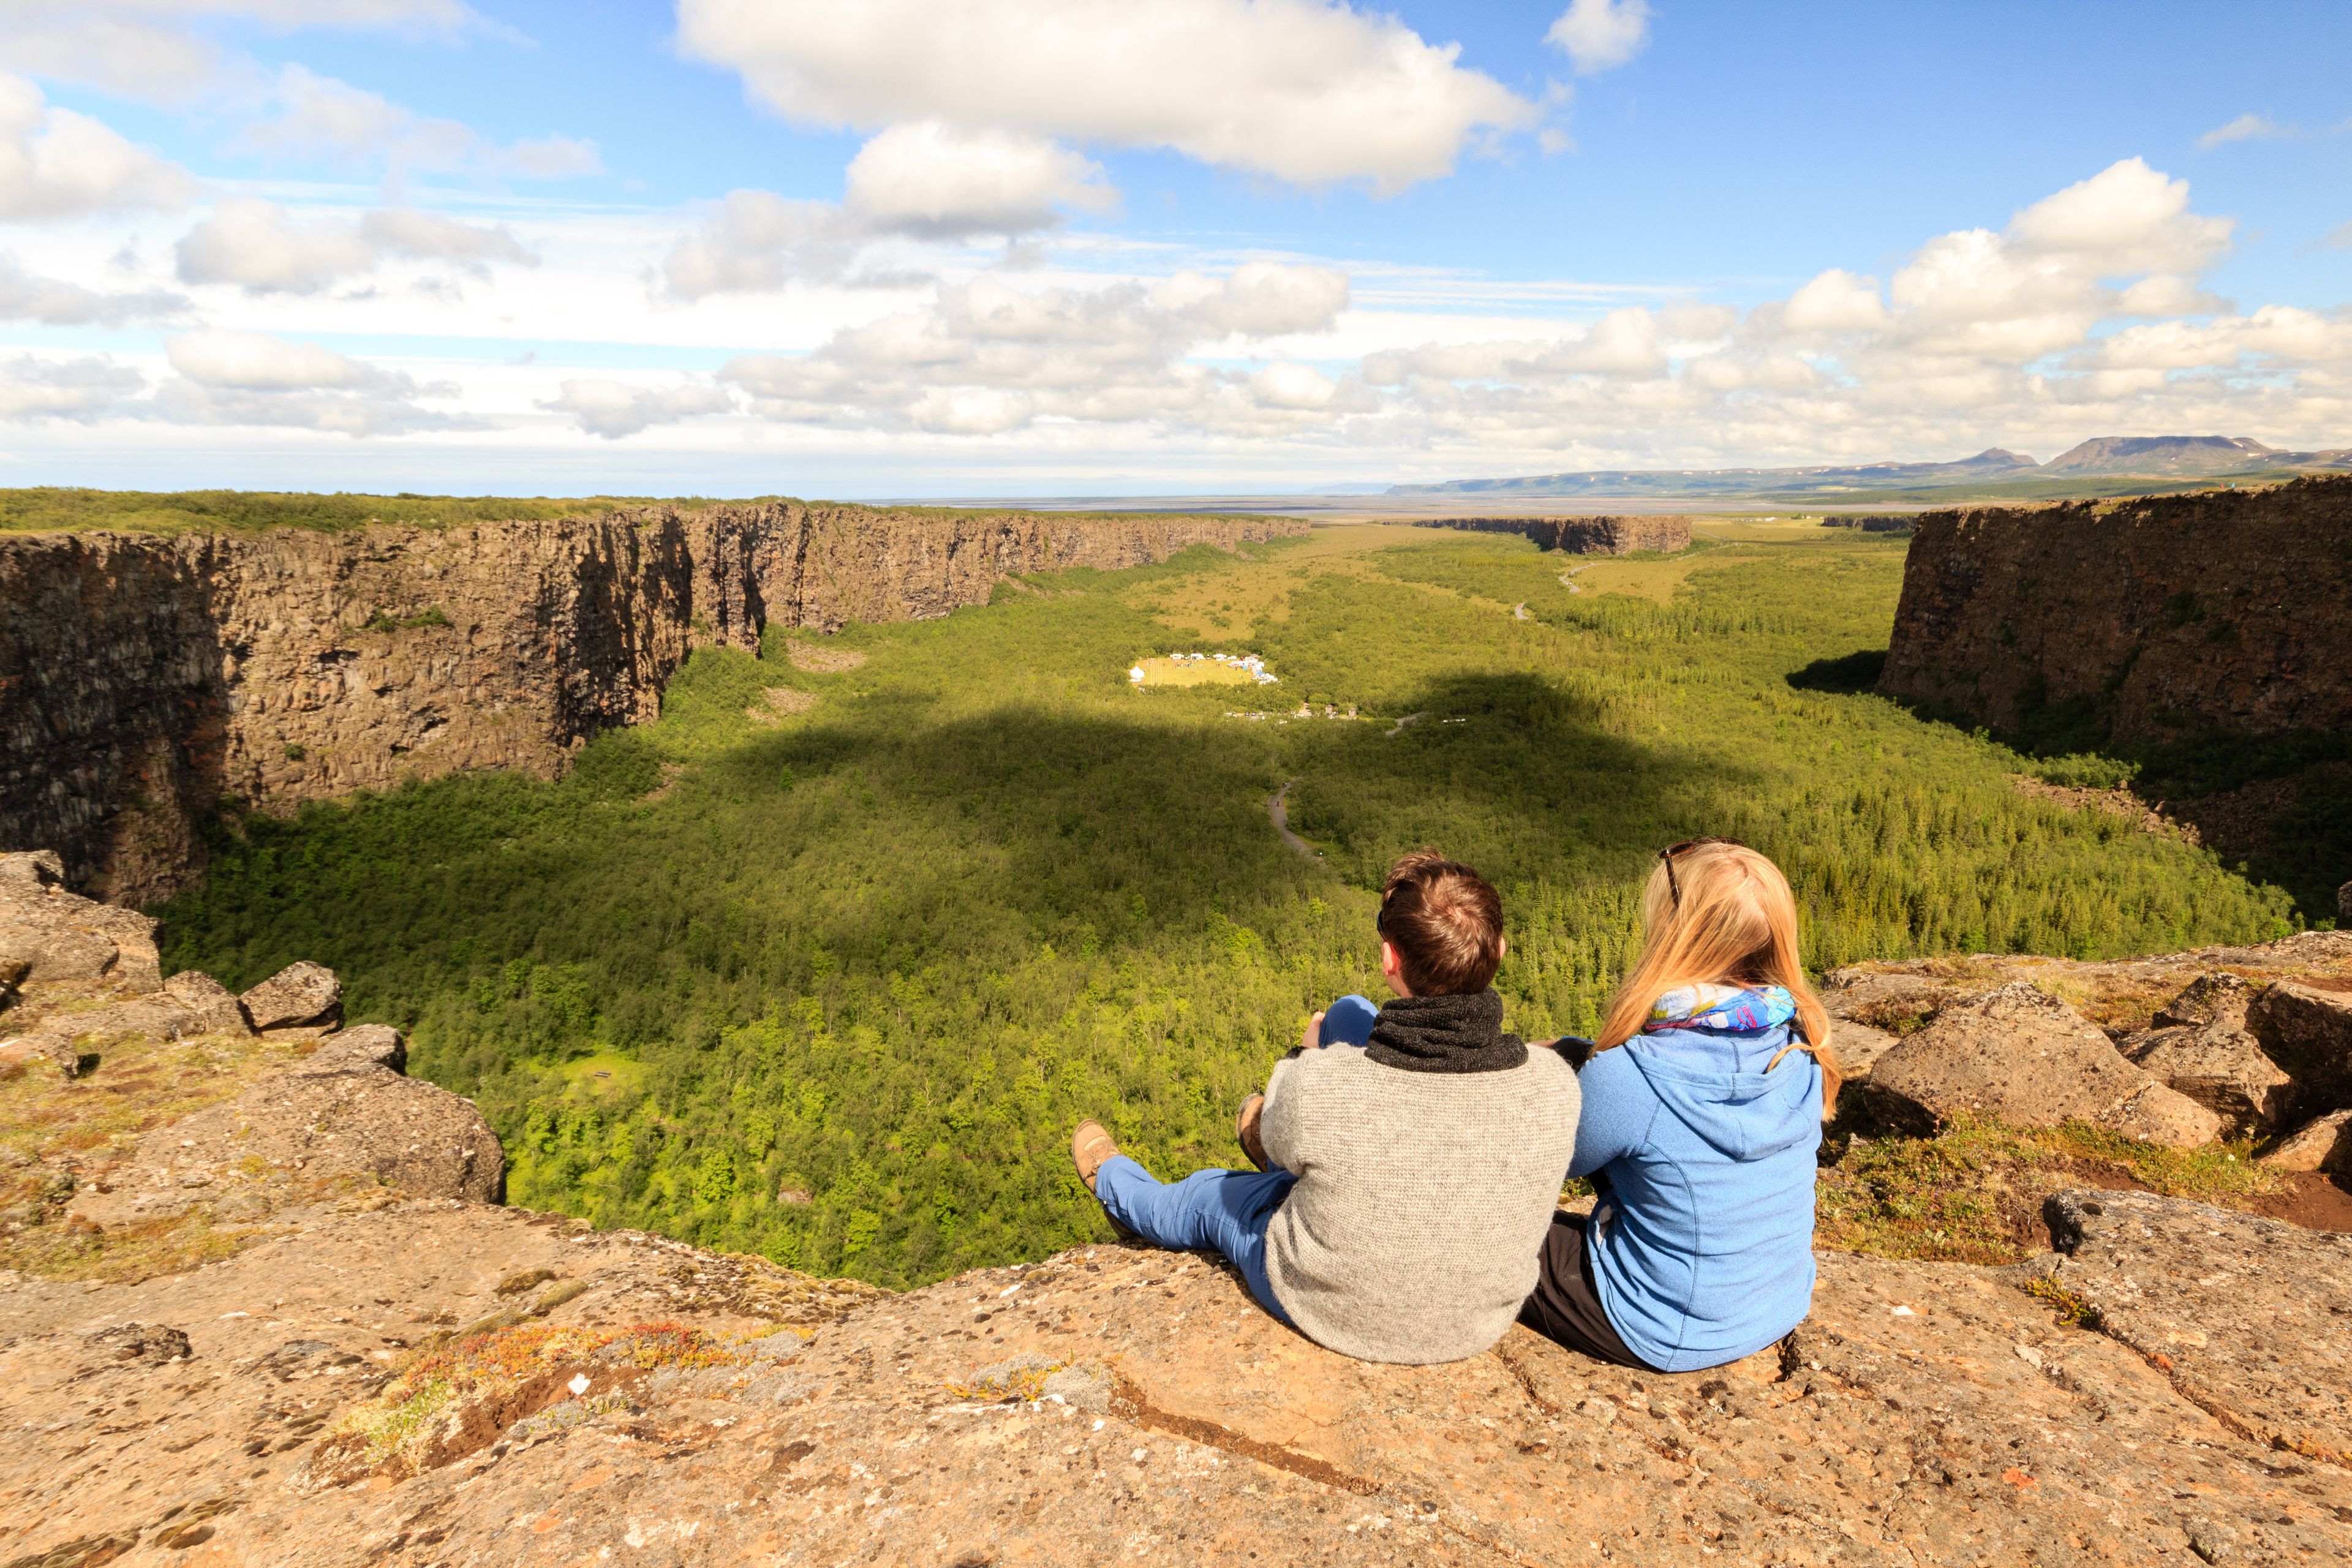
<path fill-rule="evenodd" d="M 894 125 L 847 172 L 842 202 L 731 190 L 663 261 L 675 299 L 849 277 L 880 240 L 1007 240 L 1054 228 L 1063 207 L 1103 212 L 1101 165 L 1023 132 Z"/>

